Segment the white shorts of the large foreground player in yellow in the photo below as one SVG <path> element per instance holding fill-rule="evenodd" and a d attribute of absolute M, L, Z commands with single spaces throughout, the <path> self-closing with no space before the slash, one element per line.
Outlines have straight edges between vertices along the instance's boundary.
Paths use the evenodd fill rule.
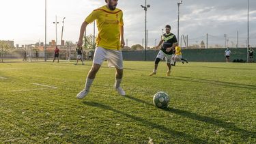
<path fill-rule="evenodd" d="M 94 53 L 94 64 L 102 65 L 104 60 L 108 61 L 110 68 L 115 67 L 119 70 L 123 69 L 123 55 L 122 51 L 109 50 L 102 47 L 97 47 Z"/>

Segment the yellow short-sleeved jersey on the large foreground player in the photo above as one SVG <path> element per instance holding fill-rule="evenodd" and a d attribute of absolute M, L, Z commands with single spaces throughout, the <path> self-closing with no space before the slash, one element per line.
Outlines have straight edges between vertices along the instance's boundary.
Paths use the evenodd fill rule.
<path fill-rule="evenodd" d="M 96 46 L 112 50 L 120 50 L 120 28 L 124 25 L 122 10 L 118 8 L 109 10 L 109 8 L 104 5 L 91 12 L 85 19 L 87 23 L 92 23 L 94 20 L 96 20 L 98 27 Z"/>

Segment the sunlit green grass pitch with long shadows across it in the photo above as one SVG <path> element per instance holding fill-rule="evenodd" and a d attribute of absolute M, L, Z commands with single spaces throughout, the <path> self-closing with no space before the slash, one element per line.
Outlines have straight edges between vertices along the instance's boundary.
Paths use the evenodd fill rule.
<path fill-rule="evenodd" d="M 153 62 L 125 61 L 127 96 L 104 63 L 78 100 L 90 66 L 0 63 L 0 143 L 256 143 L 255 63 L 177 63 L 165 76 L 162 62 L 148 76 Z"/>

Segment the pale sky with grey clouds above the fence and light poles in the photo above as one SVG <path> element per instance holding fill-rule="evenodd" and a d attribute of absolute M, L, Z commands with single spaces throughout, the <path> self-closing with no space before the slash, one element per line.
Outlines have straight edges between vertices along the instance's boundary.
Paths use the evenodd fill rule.
<path fill-rule="evenodd" d="M 15 44 L 44 42 L 44 1 L 45 0 L 1 0 L 0 40 L 14 40 Z M 158 43 L 165 25 L 171 25 L 177 35 L 176 0 L 147 0 L 151 5 L 147 11 L 148 45 Z M 57 15 L 57 39 L 61 39 L 62 19 L 63 40 L 76 42 L 79 29 L 86 16 L 94 9 L 105 5 L 104 0 L 47 0 L 47 42 L 55 40 L 55 15 Z M 125 38 L 128 46 L 142 44 L 145 29 L 145 11 L 140 5 L 145 0 L 119 0 L 117 8 L 124 11 Z M 250 0 L 250 43 L 256 46 L 256 1 Z M 87 33 L 93 32 L 89 25 Z M 240 44 L 245 44 L 247 35 L 246 0 L 184 0 L 180 6 L 180 35 L 188 35 L 188 43 L 195 44 L 206 39 L 209 44 L 236 43 L 239 31 Z"/>

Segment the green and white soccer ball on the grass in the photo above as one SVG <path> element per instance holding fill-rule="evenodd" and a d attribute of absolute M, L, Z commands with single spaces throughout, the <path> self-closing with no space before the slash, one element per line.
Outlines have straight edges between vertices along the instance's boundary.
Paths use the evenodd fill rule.
<path fill-rule="evenodd" d="M 158 108 L 163 109 L 168 107 L 169 100 L 170 98 L 167 93 L 159 91 L 154 95 L 153 103 Z"/>

